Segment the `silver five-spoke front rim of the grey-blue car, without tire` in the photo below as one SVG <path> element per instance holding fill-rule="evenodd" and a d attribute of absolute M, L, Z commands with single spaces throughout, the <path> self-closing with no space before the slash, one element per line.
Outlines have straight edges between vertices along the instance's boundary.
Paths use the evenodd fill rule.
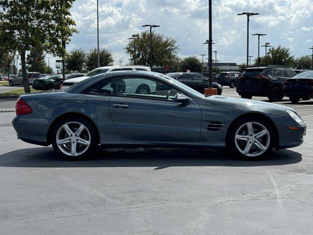
<path fill-rule="evenodd" d="M 247 122 L 235 134 L 235 144 L 239 152 L 247 157 L 256 157 L 267 151 L 270 143 L 268 129 L 258 122 Z"/>

